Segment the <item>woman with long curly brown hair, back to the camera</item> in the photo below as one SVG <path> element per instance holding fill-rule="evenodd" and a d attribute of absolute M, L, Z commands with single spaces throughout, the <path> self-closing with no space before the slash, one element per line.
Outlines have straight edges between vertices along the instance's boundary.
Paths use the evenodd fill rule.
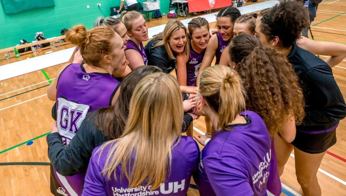
<path fill-rule="evenodd" d="M 277 169 L 274 135 L 279 135 L 288 143 L 292 142 L 295 124 L 300 124 L 304 117 L 303 94 L 298 77 L 285 56 L 271 47 L 262 46 L 251 35 L 233 38 L 228 54 L 230 64 L 243 81 L 247 109 L 262 117 L 272 137 L 271 161 Z M 275 178 L 279 176 L 269 176 L 267 189 L 273 195 L 280 195 L 281 187 L 271 183 L 275 182 Z"/>

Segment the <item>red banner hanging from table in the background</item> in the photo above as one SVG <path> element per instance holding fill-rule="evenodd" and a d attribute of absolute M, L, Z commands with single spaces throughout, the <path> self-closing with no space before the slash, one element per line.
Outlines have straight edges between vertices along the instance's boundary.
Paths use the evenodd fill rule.
<path fill-rule="evenodd" d="M 232 5 L 231 0 L 188 0 L 189 12 L 207 11 Z"/>

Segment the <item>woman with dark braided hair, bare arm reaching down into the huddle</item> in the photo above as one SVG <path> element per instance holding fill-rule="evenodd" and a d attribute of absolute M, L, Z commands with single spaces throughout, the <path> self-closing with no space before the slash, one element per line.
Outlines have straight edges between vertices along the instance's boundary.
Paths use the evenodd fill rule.
<path fill-rule="evenodd" d="M 219 64 L 222 52 L 224 52 L 230 39 L 233 37 L 234 23 L 240 15 L 240 11 L 233 7 L 227 7 L 219 11 L 216 18 L 218 33 L 211 36 L 210 42 L 207 45 L 206 55 L 203 57 L 200 71 L 197 75 L 197 86 L 199 86 L 199 77 L 201 73 L 211 65 L 214 56 L 216 56 L 215 64 Z"/>

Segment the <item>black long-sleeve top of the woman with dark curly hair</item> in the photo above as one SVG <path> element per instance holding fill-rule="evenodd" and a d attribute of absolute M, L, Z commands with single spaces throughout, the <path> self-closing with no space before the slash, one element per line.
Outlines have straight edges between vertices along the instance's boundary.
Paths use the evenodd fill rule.
<path fill-rule="evenodd" d="M 346 116 L 345 100 L 334 79 L 330 66 L 319 57 L 296 45 L 287 59 L 300 80 L 305 100 L 302 131 L 331 128 Z"/>

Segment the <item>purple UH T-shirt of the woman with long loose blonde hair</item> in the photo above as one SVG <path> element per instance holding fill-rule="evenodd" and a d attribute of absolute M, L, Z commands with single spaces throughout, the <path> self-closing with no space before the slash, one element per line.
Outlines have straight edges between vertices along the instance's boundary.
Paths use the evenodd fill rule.
<path fill-rule="evenodd" d="M 111 145 L 108 145 L 102 152 L 97 152 L 100 146 L 96 147 L 92 153 L 88 170 L 85 176 L 84 189 L 82 195 L 171 195 L 184 196 L 188 191 L 192 173 L 197 169 L 199 148 L 197 143 L 188 136 L 182 136 L 179 143 L 172 145 L 171 172 L 167 173 L 167 179 L 155 190 L 149 190 L 150 185 L 140 185 L 128 188 L 128 180 L 120 179 L 121 164 L 116 168 L 117 180 L 111 175 L 102 176 L 107 154 Z M 100 156 L 99 156 L 100 155 Z M 99 158 L 100 157 L 100 158 Z M 133 156 L 131 162 L 134 162 Z M 128 168 L 130 168 L 128 166 Z"/>

